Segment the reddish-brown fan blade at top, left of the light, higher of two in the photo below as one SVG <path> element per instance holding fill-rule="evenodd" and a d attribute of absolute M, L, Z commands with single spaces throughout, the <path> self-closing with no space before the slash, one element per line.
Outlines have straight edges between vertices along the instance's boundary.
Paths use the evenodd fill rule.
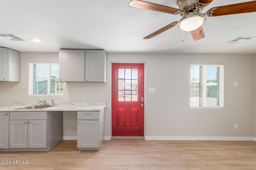
<path fill-rule="evenodd" d="M 178 9 L 176 9 L 176 8 L 172 8 L 169 6 L 163 6 L 163 5 L 159 5 L 159 4 L 154 4 L 154 3 L 150 3 L 150 2 L 144 2 L 141 0 L 131 0 L 129 2 L 128 6 L 146 9 L 146 10 L 164 12 L 164 13 L 168 13 L 168 14 L 175 14 L 176 12 L 178 12 Z"/>

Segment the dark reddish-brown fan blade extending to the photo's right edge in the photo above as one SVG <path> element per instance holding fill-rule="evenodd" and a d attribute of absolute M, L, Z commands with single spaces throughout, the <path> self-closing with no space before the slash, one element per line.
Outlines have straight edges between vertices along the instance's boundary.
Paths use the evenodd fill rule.
<path fill-rule="evenodd" d="M 250 2 L 243 2 L 239 4 L 231 4 L 225 6 L 218 6 L 211 8 L 207 12 L 207 16 L 225 16 L 232 14 L 243 14 L 249 12 L 256 12 L 256 0 Z"/>

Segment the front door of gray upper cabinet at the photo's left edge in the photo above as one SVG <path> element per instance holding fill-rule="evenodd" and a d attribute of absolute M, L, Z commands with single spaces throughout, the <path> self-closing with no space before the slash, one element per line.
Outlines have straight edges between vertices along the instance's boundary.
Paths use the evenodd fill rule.
<path fill-rule="evenodd" d="M 8 50 L 0 47 L 0 81 L 8 81 Z"/>

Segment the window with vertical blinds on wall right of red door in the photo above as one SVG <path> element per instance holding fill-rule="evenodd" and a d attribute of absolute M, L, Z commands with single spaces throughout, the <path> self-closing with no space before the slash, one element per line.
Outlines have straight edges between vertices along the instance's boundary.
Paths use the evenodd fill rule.
<path fill-rule="evenodd" d="M 190 107 L 223 107 L 223 65 L 190 65 Z"/>

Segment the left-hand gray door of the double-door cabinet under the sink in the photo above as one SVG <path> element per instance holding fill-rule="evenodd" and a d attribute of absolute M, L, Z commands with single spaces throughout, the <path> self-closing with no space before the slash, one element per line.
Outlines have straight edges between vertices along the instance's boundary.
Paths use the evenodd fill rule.
<path fill-rule="evenodd" d="M 9 121 L 9 148 L 28 147 L 28 121 Z"/>

